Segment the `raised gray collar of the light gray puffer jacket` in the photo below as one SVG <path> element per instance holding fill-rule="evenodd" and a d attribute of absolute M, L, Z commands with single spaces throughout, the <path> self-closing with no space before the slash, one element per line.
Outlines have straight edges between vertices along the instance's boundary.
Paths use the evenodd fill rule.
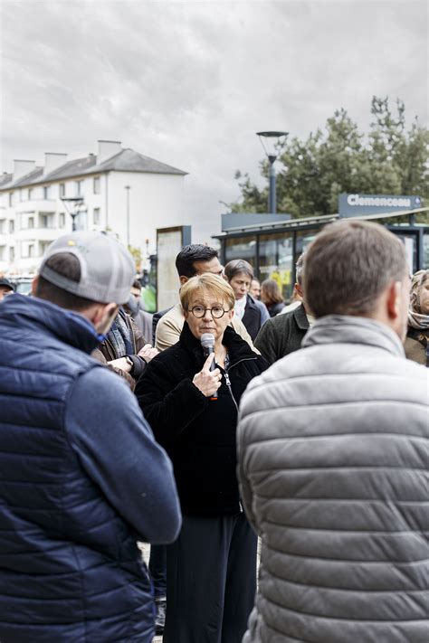
<path fill-rule="evenodd" d="M 361 344 L 405 356 L 404 346 L 391 328 L 367 317 L 327 315 L 316 320 L 302 340 L 302 347 L 320 344 Z"/>

